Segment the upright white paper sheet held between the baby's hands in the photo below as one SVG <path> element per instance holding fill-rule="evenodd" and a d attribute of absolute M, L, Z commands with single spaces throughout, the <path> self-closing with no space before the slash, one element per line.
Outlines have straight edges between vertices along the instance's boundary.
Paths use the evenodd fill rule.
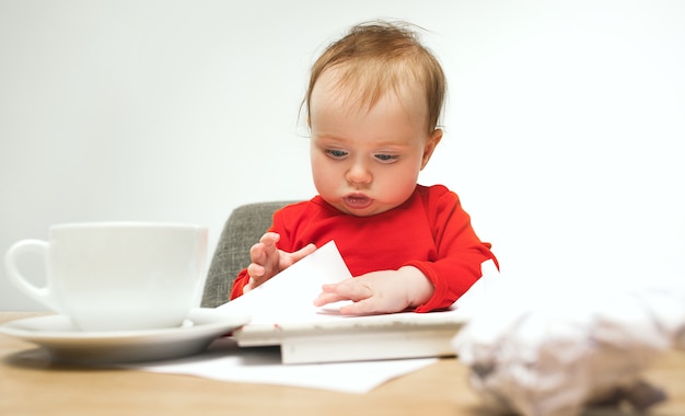
<path fill-rule="evenodd" d="M 334 241 L 288 267 L 259 287 L 217 310 L 229 314 L 251 315 L 251 324 L 272 324 L 312 320 L 330 320 L 313 305 L 324 284 L 352 277 Z"/>

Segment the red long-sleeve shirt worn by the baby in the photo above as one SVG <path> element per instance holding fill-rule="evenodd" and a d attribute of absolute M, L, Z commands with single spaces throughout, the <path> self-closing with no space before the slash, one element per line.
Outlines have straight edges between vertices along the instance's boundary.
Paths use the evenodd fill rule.
<path fill-rule="evenodd" d="M 352 276 L 414 266 L 432 282 L 432 298 L 416 312 L 450 307 L 480 278 L 480 264 L 492 259 L 462 209 L 458 197 L 442 185 L 417 185 L 397 208 L 355 217 L 321 196 L 278 210 L 269 231 L 280 234 L 278 249 L 294 252 L 309 243 L 317 247 L 335 240 Z M 249 281 L 243 269 L 233 282 L 231 299 Z"/>

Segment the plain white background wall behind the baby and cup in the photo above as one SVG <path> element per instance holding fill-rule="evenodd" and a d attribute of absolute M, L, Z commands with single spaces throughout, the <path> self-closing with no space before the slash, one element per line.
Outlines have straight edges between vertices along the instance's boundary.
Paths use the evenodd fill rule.
<path fill-rule="evenodd" d="M 306 72 L 379 18 L 444 65 L 421 183 L 461 196 L 502 271 L 685 281 L 685 2 L 663 0 L 0 0 L 0 251 L 146 220 L 209 227 L 211 255 L 236 206 L 310 198 Z M 0 310 L 43 309 L 0 270 Z"/>

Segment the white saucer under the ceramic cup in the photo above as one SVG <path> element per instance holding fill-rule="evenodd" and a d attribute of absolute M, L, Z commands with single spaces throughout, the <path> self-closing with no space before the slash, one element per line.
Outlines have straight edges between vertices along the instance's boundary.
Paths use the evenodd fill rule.
<path fill-rule="evenodd" d="M 35 316 L 0 325 L 0 333 L 37 344 L 58 361 L 119 363 L 162 360 L 205 350 L 217 337 L 249 322 L 214 309 L 190 311 L 179 327 L 130 332 L 82 332 L 63 315 Z"/>

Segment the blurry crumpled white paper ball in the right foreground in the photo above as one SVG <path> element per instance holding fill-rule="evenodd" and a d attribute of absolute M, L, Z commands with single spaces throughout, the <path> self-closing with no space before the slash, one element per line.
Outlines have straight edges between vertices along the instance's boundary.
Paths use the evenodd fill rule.
<path fill-rule="evenodd" d="M 685 288 L 557 290 L 539 299 L 488 278 L 487 290 L 465 300 L 472 317 L 453 339 L 486 406 L 571 416 L 592 404 L 625 402 L 641 412 L 665 400 L 641 373 L 664 350 L 685 346 Z"/>

